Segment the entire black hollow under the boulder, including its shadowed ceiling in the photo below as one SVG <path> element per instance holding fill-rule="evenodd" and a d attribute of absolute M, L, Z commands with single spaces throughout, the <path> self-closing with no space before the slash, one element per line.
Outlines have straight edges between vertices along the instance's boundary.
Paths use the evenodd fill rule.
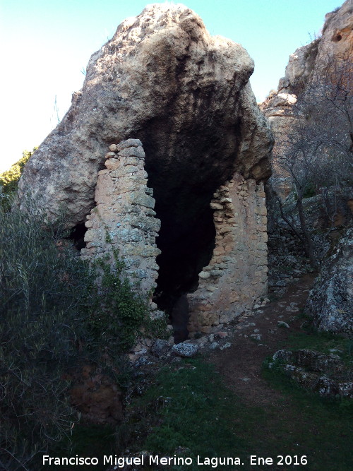
<path fill-rule="evenodd" d="M 205 109 L 207 105 L 198 107 L 182 131 L 178 120 L 170 119 L 180 110 L 170 109 L 170 116 L 151 119 L 136 132 L 145 150 L 148 186 L 161 221 L 154 301 L 169 316 L 176 342 L 189 335 L 186 294 L 197 290 L 198 274 L 208 266 L 215 248 L 210 201 L 234 173 L 239 143 L 240 126 L 234 129 L 234 122 L 223 117 L 220 132 L 220 126 L 210 125 Z M 213 119 L 217 122 L 217 114 Z"/>

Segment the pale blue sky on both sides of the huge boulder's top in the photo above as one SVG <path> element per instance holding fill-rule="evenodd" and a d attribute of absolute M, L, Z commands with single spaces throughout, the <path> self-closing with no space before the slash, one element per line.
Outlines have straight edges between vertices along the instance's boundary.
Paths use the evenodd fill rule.
<path fill-rule="evenodd" d="M 62 117 L 90 55 L 141 0 L 0 0 L 0 172 L 39 145 Z M 156 2 L 164 3 L 164 2 Z M 176 2 L 177 3 L 177 2 Z M 242 44 L 255 61 L 258 101 L 277 88 L 297 47 L 318 35 L 340 0 L 185 0 L 212 35 Z"/>

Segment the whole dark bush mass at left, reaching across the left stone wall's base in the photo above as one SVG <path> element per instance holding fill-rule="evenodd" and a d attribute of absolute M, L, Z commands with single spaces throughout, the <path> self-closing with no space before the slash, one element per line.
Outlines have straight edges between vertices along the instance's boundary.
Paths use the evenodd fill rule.
<path fill-rule="evenodd" d="M 64 224 L 24 204 L 24 212 L 0 207 L 0 469 L 8 471 L 70 434 L 78 414 L 68 373 L 81 361 L 116 370 L 116 352 L 132 345 L 147 314 L 121 264 L 97 262 L 99 288 L 97 267 L 64 239 Z"/>

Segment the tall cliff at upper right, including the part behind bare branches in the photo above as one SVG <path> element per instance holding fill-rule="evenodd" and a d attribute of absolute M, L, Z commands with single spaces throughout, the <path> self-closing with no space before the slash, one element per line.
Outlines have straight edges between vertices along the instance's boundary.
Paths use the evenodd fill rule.
<path fill-rule="evenodd" d="M 276 158 L 293 145 L 288 136 L 296 132 L 302 134 L 302 141 L 312 141 L 313 148 L 321 146 L 322 155 L 332 153 L 337 143 L 352 152 L 352 57 L 353 0 L 347 0 L 325 16 L 321 37 L 299 47 L 289 57 L 277 91 L 261 105 L 275 135 L 275 169 Z M 301 131 L 303 127 L 310 131 Z M 311 151 L 309 145 L 306 150 Z M 277 190 L 281 173 L 279 169 L 279 178 L 274 181 Z"/>

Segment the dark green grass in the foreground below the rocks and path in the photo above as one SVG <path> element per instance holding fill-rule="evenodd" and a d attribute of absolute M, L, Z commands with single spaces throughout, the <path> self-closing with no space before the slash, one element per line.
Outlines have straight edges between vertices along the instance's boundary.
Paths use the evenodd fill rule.
<path fill-rule="evenodd" d="M 295 387 L 276 371 L 264 369 L 263 375 L 277 389 L 270 406 L 239 398 L 203 359 L 165 366 L 157 371 L 145 393 L 136 395 L 128 405 L 130 417 L 122 449 L 188 456 L 193 458 L 193 465 L 187 467 L 191 471 L 201 468 L 197 455 L 201 460 L 240 457 L 244 471 L 264 469 L 263 465 L 251 465 L 250 455 L 271 457 L 274 463 L 277 455 L 306 456 L 308 471 L 348 471 L 352 460 L 347 440 L 352 434 L 349 408 Z M 234 470 L 232 465 L 202 465 L 204 470 L 221 468 Z M 186 467 L 153 469 L 179 471 Z"/>

